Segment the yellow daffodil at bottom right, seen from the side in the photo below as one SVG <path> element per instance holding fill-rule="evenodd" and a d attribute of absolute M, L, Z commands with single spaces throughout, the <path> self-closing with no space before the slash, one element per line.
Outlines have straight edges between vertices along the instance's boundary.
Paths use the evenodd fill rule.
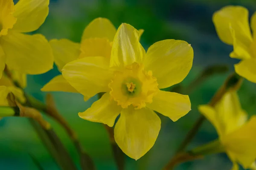
<path fill-rule="evenodd" d="M 242 110 L 236 92 L 228 92 L 215 107 L 200 105 L 199 111 L 216 128 L 233 170 L 238 164 L 245 169 L 255 167 L 256 159 L 256 116 L 247 121 L 247 113 Z"/>

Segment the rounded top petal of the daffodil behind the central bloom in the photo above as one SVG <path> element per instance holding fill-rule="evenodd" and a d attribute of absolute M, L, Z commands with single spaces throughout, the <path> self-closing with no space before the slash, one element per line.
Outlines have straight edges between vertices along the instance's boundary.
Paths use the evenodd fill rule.
<path fill-rule="evenodd" d="M 116 28 L 107 18 L 96 18 L 84 29 L 82 40 L 87 38 L 107 38 L 113 41 Z"/>

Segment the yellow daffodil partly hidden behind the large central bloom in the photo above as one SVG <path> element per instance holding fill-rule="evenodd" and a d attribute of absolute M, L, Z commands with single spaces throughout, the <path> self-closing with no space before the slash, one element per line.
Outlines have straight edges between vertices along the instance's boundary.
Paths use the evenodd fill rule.
<path fill-rule="evenodd" d="M 143 30 L 139 30 L 140 35 Z M 58 70 L 68 62 L 83 57 L 102 56 L 110 59 L 112 41 L 116 34 L 116 28 L 106 18 L 96 18 L 84 29 L 81 43 L 75 43 L 67 39 L 51 40 L 50 45 L 54 54 L 55 64 Z M 41 89 L 42 91 L 64 91 L 78 93 L 62 75 L 54 77 Z M 84 96 L 87 100 L 88 97 Z"/>

